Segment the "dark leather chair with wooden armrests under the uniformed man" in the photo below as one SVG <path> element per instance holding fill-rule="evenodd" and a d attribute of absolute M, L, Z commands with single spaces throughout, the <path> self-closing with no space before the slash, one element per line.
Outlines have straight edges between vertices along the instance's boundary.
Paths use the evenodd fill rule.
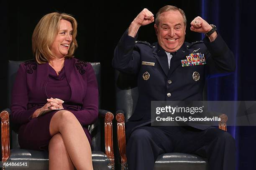
<path fill-rule="evenodd" d="M 125 122 L 131 117 L 138 100 L 138 87 L 131 75 L 115 72 L 116 80 L 116 108 L 118 150 L 122 170 L 129 165 L 126 158 Z M 220 115 L 219 128 L 227 130 L 226 115 Z M 186 153 L 164 153 L 158 156 L 154 170 L 208 170 L 207 159 L 198 155 Z"/>

